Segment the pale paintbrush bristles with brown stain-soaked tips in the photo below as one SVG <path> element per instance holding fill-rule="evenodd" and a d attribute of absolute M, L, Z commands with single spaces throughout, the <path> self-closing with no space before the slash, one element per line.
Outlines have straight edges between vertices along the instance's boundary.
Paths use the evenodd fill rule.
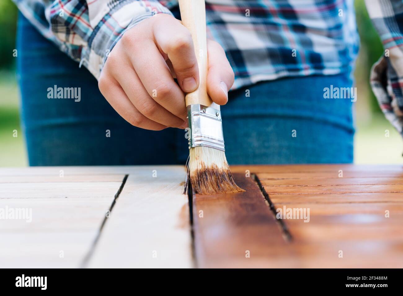
<path fill-rule="evenodd" d="M 192 189 L 198 194 L 245 191 L 235 184 L 225 152 L 218 149 L 205 146 L 191 148 L 187 172 Z"/>

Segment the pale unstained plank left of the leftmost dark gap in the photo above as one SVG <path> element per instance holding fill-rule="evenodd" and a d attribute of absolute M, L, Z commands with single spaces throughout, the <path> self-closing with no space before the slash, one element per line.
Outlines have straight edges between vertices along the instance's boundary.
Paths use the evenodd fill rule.
<path fill-rule="evenodd" d="M 108 181 L 103 175 L 103 181 L 97 182 L 97 175 L 88 175 L 83 181 L 83 171 L 76 169 L 75 177 L 69 169 L 68 179 L 79 182 L 60 181 L 57 173 L 41 175 L 39 179 L 47 182 L 37 183 L 38 171 L 48 170 L 12 169 L 10 174 L 1 170 L 7 182 L 0 183 L 0 211 L 28 214 L 20 219 L 8 214 L 0 220 L 2 267 L 79 267 L 123 180 L 113 175 Z"/>

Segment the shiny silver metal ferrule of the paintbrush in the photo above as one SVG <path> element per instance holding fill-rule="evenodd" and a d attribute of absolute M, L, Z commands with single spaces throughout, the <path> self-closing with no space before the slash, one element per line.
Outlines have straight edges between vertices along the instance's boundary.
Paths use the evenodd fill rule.
<path fill-rule="evenodd" d="M 187 121 L 189 149 L 206 146 L 225 151 L 220 110 L 199 104 L 189 105 Z"/>

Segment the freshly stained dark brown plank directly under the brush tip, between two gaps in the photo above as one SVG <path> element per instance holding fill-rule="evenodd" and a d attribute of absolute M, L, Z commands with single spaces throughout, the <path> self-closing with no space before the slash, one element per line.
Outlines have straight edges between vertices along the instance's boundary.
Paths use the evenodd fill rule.
<path fill-rule="evenodd" d="M 246 192 L 193 198 L 197 266 L 295 267 L 259 187 L 245 175 L 234 178 Z"/>

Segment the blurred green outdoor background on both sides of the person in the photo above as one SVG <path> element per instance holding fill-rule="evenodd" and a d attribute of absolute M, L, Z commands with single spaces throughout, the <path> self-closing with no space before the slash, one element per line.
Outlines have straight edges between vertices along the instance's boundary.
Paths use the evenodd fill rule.
<path fill-rule="evenodd" d="M 383 54 L 382 43 L 372 26 L 364 0 L 355 0 L 361 39 L 355 70 L 358 99 L 355 103 L 354 162 L 402 163 L 403 141 L 378 107 L 369 85 L 370 68 Z M 19 92 L 15 73 L 17 8 L 11 0 L 0 1 L 0 167 L 26 166 L 27 153 L 19 117 Z M 18 137 L 13 137 L 13 130 Z M 390 137 L 385 137 L 385 129 Z"/>

